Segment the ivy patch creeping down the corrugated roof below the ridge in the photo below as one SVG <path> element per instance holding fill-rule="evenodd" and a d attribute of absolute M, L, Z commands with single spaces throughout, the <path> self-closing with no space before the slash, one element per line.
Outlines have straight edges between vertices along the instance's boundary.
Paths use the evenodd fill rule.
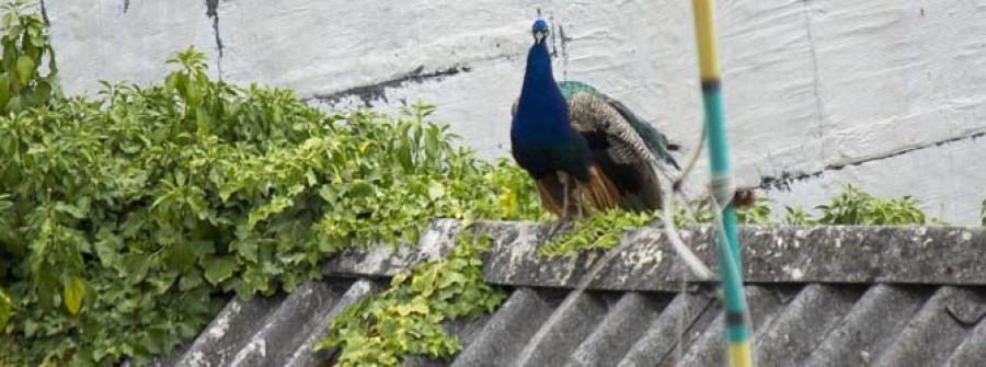
<path fill-rule="evenodd" d="M 349 307 L 316 349 L 341 347 L 340 366 L 397 366 L 408 355 L 449 358 L 461 348 L 442 322 L 493 311 L 504 293 L 483 279 L 488 237 L 460 237 L 445 260 L 394 276 L 390 288 Z"/>

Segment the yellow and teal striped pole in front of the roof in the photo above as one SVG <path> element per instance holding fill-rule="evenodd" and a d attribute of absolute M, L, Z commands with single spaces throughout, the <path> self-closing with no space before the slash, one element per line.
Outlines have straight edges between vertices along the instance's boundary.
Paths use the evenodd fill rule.
<path fill-rule="evenodd" d="M 698 41 L 699 69 L 702 81 L 702 104 L 706 110 L 706 137 L 712 169 L 712 193 L 720 204 L 732 198 L 729 150 L 726 147 L 725 118 L 722 114 L 722 81 L 719 74 L 719 55 L 715 47 L 715 24 L 711 0 L 692 0 L 695 31 Z M 731 367 L 753 366 L 752 336 L 747 320 L 746 300 L 743 295 L 740 238 L 736 234 L 736 216 L 732 205 L 722 209 L 722 229 L 727 243 L 719 246 L 719 269 L 725 294 L 725 326 Z"/>

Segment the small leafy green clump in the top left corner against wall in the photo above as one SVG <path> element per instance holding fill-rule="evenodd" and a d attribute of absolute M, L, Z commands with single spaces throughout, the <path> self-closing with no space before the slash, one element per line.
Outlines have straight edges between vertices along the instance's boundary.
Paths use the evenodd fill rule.
<path fill-rule="evenodd" d="M 0 60 L 0 112 L 41 106 L 61 94 L 55 49 L 35 5 L 18 0 L 2 9 L 3 58 Z M 47 69 L 44 68 L 47 62 Z M 44 76 L 42 72 L 47 71 Z"/>

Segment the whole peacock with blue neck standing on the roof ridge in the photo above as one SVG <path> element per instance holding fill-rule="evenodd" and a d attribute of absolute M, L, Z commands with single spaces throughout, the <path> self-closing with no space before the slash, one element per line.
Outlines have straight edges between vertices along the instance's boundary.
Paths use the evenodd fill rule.
<path fill-rule="evenodd" d="M 658 162 L 678 169 L 667 137 L 626 105 L 578 81 L 555 82 L 548 23 L 539 18 L 520 96 L 514 102 L 511 153 L 535 180 L 559 225 L 597 210 L 661 207 Z"/>

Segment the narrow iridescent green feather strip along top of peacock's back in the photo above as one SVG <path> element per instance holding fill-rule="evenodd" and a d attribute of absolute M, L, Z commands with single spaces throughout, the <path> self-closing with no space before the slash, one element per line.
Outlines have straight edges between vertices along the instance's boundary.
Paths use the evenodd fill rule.
<path fill-rule="evenodd" d="M 640 136 L 640 139 L 643 140 L 644 146 L 651 151 L 651 153 L 660 158 L 667 164 L 676 169 L 680 169 L 678 167 L 678 162 L 675 161 L 675 158 L 672 157 L 669 150 L 672 150 L 672 145 L 668 142 L 667 137 L 658 131 L 654 126 L 647 124 L 642 118 L 638 117 L 633 114 L 630 108 L 627 107 L 622 102 L 610 98 L 603 92 L 599 92 L 593 85 L 586 84 L 581 81 L 563 81 L 558 83 L 559 89 L 562 91 L 562 95 L 564 95 L 565 100 L 569 101 L 569 105 L 571 108 L 572 99 L 574 99 L 577 94 L 588 94 L 591 96 L 595 96 L 601 99 L 607 104 L 609 104 Z"/>

